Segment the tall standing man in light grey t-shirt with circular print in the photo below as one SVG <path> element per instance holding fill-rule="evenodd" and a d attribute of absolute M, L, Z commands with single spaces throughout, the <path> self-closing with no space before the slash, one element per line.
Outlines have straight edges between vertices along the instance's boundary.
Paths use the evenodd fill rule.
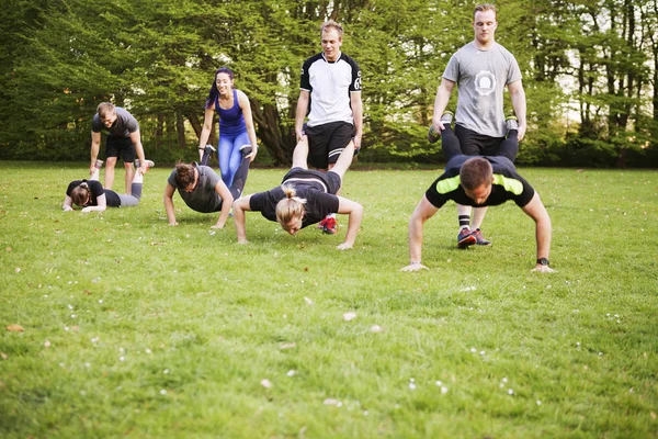
<path fill-rule="evenodd" d="M 452 90 L 458 86 L 455 135 L 462 151 L 467 156 L 496 156 L 508 132 L 503 113 L 503 92 L 507 86 L 518 119 L 518 140 L 526 128 L 525 92 L 521 70 L 514 56 L 495 42 L 496 7 L 480 4 L 475 8 L 474 41 L 463 46 L 450 59 L 434 100 L 433 130 L 444 130 L 441 116 Z M 487 207 L 475 209 L 470 224 L 470 206 L 457 205 L 460 233 L 457 245 L 488 246 L 479 229 Z M 475 239 L 474 239 L 475 238 Z"/>

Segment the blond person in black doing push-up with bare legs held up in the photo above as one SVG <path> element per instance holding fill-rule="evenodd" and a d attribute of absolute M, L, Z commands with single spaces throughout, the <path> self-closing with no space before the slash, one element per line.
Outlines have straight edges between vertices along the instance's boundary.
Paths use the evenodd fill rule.
<path fill-rule="evenodd" d="M 336 195 L 342 177 L 352 162 L 354 144 L 350 143 L 340 154 L 336 166 L 328 172 L 308 169 L 308 140 L 300 140 L 293 153 L 293 167 L 284 176 L 281 185 L 236 200 L 232 205 L 238 243 L 247 243 L 245 212 L 257 211 L 265 218 L 275 221 L 291 235 L 302 228 L 319 223 L 328 214 L 348 214 L 348 232 L 343 244 L 337 248 L 344 250 L 354 246 L 363 207 L 361 204 Z"/>

